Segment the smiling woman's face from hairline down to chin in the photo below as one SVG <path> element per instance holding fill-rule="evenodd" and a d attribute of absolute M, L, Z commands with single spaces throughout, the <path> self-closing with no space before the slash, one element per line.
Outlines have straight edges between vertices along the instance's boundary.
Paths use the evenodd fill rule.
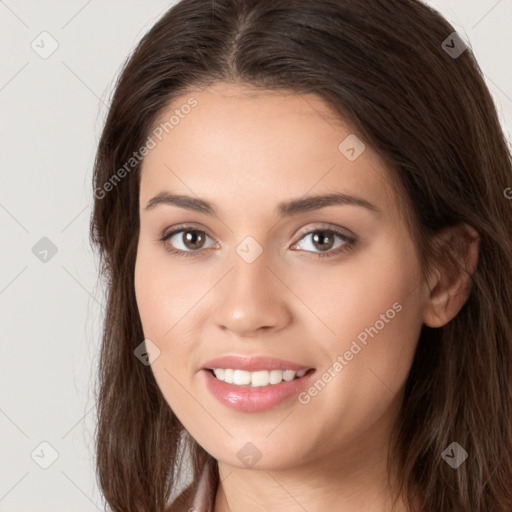
<path fill-rule="evenodd" d="M 315 95 L 216 84 L 169 119 L 142 168 L 135 267 L 169 406 L 233 466 L 381 454 L 428 298 L 382 162 Z M 360 201 L 314 199 L 334 194 Z M 308 371 L 268 383 L 286 369 Z"/>

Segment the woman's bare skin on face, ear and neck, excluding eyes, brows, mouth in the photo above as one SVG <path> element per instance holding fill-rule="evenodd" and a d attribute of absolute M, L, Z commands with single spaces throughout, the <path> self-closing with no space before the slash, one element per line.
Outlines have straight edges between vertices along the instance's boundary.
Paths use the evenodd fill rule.
<path fill-rule="evenodd" d="M 158 386 L 219 461 L 215 511 L 390 511 L 389 435 L 420 329 L 459 312 L 467 274 L 439 265 L 422 281 L 397 187 L 368 145 L 355 161 L 339 151 L 353 131 L 319 97 L 217 83 L 177 99 L 161 120 L 190 96 L 198 105 L 144 160 L 135 288 L 144 335 L 160 350 L 151 365 Z M 218 216 L 146 209 L 162 191 L 213 202 Z M 332 192 L 380 213 L 334 205 L 274 214 L 283 200 Z M 170 254 L 159 241 L 181 223 L 206 232 L 202 256 Z M 322 248 L 303 233 L 326 223 L 350 230 L 355 245 L 318 257 Z M 457 236 L 475 235 L 466 228 Z M 167 244 L 193 251 L 184 234 Z M 247 236 L 263 250 L 251 264 L 236 252 Z M 461 258 L 474 268 L 476 242 Z M 203 364 L 226 354 L 270 355 L 321 376 L 396 302 L 401 311 L 307 404 L 292 397 L 264 412 L 235 411 L 204 385 Z M 247 442 L 261 452 L 251 468 L 237 457 Z M 405 510 L 401 500 L 395 510 Z"/>

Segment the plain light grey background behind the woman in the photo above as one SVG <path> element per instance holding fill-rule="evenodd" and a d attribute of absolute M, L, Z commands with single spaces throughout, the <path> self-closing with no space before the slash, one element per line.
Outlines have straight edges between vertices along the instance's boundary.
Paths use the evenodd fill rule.
<path fill-rule="evenodd" d="M 512 0 L 428 3 L 470 42 L 510 141 Z M 101 510 L 92 164 L 121 65 L 171 4 L 0 1 L 0 511 Z M 51 49 L 44 31 L 58 43 L 46 59 L 31 47 Z"/>

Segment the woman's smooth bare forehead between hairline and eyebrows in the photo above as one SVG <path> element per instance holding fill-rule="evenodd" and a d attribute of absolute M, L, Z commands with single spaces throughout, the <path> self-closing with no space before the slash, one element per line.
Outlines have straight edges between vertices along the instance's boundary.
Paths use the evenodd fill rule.
<path fill-rule="evenodd" d="M 314 94 L 216 84 L 176 98 L 154 127 L 159 139 L 142 166 L 145 200 L 164 189 L 249 202 L 308 191 L 393 200 L 377 155 L 366 146 L 349 160 L 344 141 L 357 135 Z"/>

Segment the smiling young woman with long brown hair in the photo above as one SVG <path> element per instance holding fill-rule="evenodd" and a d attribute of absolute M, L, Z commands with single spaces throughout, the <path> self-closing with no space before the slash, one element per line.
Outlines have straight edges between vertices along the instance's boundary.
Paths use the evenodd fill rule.
<path fill-rule="evenodd" d="M 510 184 L 419 1 L 172 7 L 95 164 L 110 508 L 512 510 Z"/>

